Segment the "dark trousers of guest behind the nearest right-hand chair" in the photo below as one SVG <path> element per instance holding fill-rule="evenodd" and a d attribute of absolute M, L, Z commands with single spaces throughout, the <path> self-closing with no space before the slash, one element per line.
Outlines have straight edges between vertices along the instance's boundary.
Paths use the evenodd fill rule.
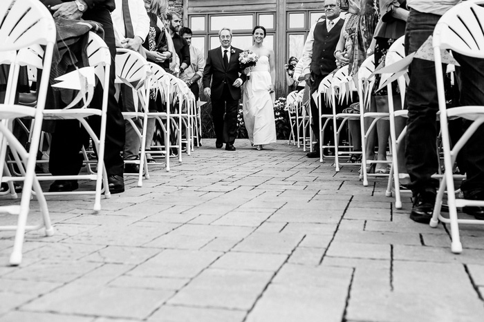
<path fill-rule="evenodd" d="M 406 54 L 415 52 L 429 35 L 434 32 L 440 16 L 410 10 L 405 34 Z M 474 59 L 454 54 L 460 63 L 456 69 L 460 89 L 459 105 L 484 105 L 484 59 Z M 443 66 L 445 72 L 445 66 Z M 410 175 L 410 188 L 420 192 L 426 188 L 436 188 L 438 181 L 431 175 L 438 171 L 436 138 L 438 112 L 436 73 L 434 61 L 413 59 L 410 68 L 410 82 L 407 89 L 407 149 L 405 158 Z M 464 120 L 462 128 L 469 126 Z M 467 172 L 463 191 L 484 188 L 484 126 L 481 125 L 460 151 L 458 162 Z"/>

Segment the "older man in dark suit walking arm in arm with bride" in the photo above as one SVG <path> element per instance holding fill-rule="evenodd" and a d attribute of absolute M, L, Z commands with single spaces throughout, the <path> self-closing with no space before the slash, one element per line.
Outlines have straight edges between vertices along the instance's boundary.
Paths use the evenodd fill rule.
<path fill-rule="evenodd" d="M 225 142 L 225 150 L 235 151 L 240 88 L 246 76 L 241 74 L 239 66 L 239 54 L 242 50 L 230 46 L 232 30 L 222 28 L 218 32 L 218 37 L 222 46 L 208 52 L 207 63 L 203 70 L 203 92 L 212 98 L 216 148 L 222 148 Z"/>

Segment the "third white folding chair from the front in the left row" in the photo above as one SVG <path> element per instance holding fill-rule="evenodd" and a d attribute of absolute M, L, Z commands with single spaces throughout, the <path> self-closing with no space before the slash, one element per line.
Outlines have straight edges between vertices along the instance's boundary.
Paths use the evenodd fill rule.
<path fill-rule="evenodd" d="M 140 166 L 138 172 L 138 187 L 142 187 L 143 172 L 145 179 L 149 179 L 148 166 L 146 161 L 146 133 L 148 125 L 148 106 L 149 106 L 149 90 L 151 68 L 149 68 L 147 60 L 138 52 L 133 50 L 117 48 L 116 49 L 116 80 L 115 83 L 127 85 L 133 92 L 133 101 L 135 106 L 134 112 L 122 112 L 122 116 L 129 122 L 134 129 L 134 132 L 140 139 L 140 157 L 135 160 L 124 160 L 124 163 L 135 163 Z M 141 104 L 139 104 L 141 103 Z M 141 105 L 141 106 L 140 106 Z M 133 121 L 135 119 L 142 119 L 142 130 Z M 125 173 L 126 174 L 126 173 Z"/>

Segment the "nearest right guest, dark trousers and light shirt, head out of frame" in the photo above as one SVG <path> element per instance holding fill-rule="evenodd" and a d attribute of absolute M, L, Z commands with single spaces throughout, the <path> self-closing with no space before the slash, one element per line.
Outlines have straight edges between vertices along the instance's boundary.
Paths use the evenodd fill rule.
<path fill-rule="evenodd" d="M 415 52 L 434 32 L 440 17 L 460 0 L 407 0 L 410 7 L 405 31 L 406 54 Z M 460 64 L 456 68 L 460 105 L 484 105 L 484 59 L 466 57 L 453 52 Z M 445 68 L 443 68 L 445 71 Z M 434 61 L 413 59 L 409 67 L 410 82 L 407 88 L 407 146 L 405 157 L 413 193 L 413 208 L 410 219 L 418 223 L 429 223 L 436 199 L 438 180 L 431 175 L 438 171 L 436 138 L 438 134 L 436 113 L 438 100 Z M 471 121 L 463 120 L 463 128 Z M 484 200 L 484 125 L 474 132 L 459 157 L 467 173 L 460 189 L 465 199 Z M 460 169 L 462 170 L 462 169 Z M 484 220 L 484 208 L 466 206 L 463 211 Z"/>

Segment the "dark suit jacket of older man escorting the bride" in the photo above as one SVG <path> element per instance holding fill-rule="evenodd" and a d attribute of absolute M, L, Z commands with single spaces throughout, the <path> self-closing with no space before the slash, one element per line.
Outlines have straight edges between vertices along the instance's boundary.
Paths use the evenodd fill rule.
<path fill-rule="evenodd" d="M 229 66 L 225 70 L 223 67 L 223 56 L 221 47 L 209 50 L 207 54 L 207 63 L 203 69 L 203 88 L 210 87 L 212 99 L 220 99 L 223 94 L 225 84 L 228 85 L 232 99 L 241 98 L 241 89 L 234 87 L 232 84 L 238 78 L 245 81 L 245 74 L 239 66 L 239 54 L 242 52 L 239 48 L 232 47 L 234 53 L 230 54 Z M 239 74 L 241 74 L 239 76 Z M 212 85 L 210 85 L 212 80 Z"/>

